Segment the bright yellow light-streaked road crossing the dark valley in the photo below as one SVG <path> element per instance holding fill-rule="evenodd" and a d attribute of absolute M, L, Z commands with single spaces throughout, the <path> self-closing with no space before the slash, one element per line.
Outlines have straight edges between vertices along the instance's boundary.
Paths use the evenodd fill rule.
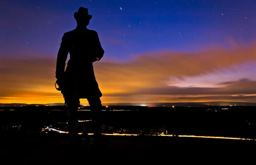
<path fill-rule="evenodd" d="M 68 134 L 69 132 L 67 131 L 59 131 L 53 128 L 46 128 L 49 129 L 51 131 L 57 131 L 58 133 L 66 133 Z M 79 133 L 82 134 L 82 133 Z M 88 134 L 88 135 L 93 135 L 93 134 Z M 138 134 L 105 134 L 105 135 L 109 135 L 109 136 L 139 136 Z M 161 137 L 173 137 L 172 134 L 170 135 L 164 135 L 164 134 L 160 134 L 160 135 L 150 135 L 150 136 L 161 136 Z M 197 137 L 197 138 L 211 138 L 211 139 L 233 139 L 233 140 L 253 140 L 256 141 L 256 139 L 244 139 L 244 138 L 239 138 L 239 137 L 209 137 L 209 136 L 194 136 L 194 135 L 178 135 L 178 137 Z"/>

